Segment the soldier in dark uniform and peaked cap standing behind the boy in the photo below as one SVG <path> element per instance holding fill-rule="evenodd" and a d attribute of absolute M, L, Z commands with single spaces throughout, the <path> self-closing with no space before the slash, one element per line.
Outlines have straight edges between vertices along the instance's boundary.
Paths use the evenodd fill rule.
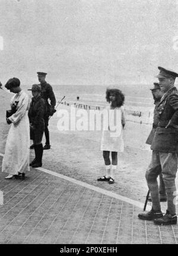
<path fill-rule="evenodd" d="M 55 105 L 56 105 L 56 98 L 55 94 L 53 93 L 53 88 L 49 83 L 45 81 L 46 74 L 44 72 L 37 72 L 37 76 L 40 82 L 40 85 L 42 86 L 42 93 L 41 96 L 43 99 L 45 99 L 45 137 L 46 137 L 46 143 L 43 149 L 50 149 L 50 142 L 49 142 L 49 130 L 48 130 L 48 124 L 49 124 L 49 116 L 53 115 L 55 113 Z M 48 99 L 50 99 L 50 104 L 48 102 Z M 31 145 L 30 148 L 33 148 L 33 145 Z"/>

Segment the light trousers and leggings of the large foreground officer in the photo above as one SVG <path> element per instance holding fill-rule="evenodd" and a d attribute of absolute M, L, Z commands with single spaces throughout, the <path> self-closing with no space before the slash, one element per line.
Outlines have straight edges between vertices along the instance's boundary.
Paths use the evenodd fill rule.
<path fill-rule="evenodd" d="M 167 195 L 167 210 L 170 214 L 176 213 L 175 179 L 177 163 L 177 153 L 152 151 L 151 163 L 147 168 L 145 177 L 147 179 L 148 188 L 150 189 L 153 210 L 161 210 L 157 177 L 160 171 L 162 171 Z"/>

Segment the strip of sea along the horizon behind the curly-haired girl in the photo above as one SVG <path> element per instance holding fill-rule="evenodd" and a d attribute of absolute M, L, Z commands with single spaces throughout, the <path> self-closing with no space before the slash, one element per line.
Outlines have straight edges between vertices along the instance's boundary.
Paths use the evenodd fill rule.
<path fill-rule="evenodd" d="M 53 90 L 58 100 L 65 96 L 66 101 L 77 101 L 79 97 L 79 100 L 86 104 L 105 105 L 106 88 L 112 87 L 122 90 L 125 105 L 152 107 L 151 85 L 53 85 Z"/>

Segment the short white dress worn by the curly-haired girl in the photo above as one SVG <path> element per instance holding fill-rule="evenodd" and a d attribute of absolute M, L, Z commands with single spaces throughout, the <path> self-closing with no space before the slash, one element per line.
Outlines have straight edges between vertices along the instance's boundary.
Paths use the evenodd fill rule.
<path fill-rule="evenodd" d="M 101 151 L 123 152 L 123 128 L 125 124 L 125 111 L 123 106 L 110 110 L 110 106 L 106 107 L 109 125 L 105 126 L 101 136 Z M 115 129 L 114 129 L 115 128 Z"/>

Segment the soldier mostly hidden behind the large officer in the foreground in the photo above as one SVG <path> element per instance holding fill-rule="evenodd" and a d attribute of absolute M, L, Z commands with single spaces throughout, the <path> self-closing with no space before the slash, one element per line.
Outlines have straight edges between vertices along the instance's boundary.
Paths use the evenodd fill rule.
<path fill-rule="evenodd" d="M 154 137 L 154 133 L 155 133 L 156 126 L 157 126 L 157 117 L 158 117 L 158 108 L 157 107 L 161 100 L 161 97 L 163 96 L 163 92 L 161 91 L 159 83 L 154 83 L 154 88 L 151 88 L 150 90 L 152 93 L 152 97 L 154 99 L 155 108 L 154 108 L 154 115 L 153 115 L 152 130 L 151 130 L 150 135 L 148 136 L 148 139 L 146 141 L 146 143 L 149 145 L 151 145 L 151 143 L 152 143 L 152 139 Z M 167 197 L 166 197 L 166 190 L 165 190 L 164 181 L 163 181 L 163 174 L 160 173 L 159 177 L 160 177 L 160 188 L 159 188 L 160 202 L 166 202 Z M 151 202 L 151 196 L 149 196 L 148 201 Z"/>

